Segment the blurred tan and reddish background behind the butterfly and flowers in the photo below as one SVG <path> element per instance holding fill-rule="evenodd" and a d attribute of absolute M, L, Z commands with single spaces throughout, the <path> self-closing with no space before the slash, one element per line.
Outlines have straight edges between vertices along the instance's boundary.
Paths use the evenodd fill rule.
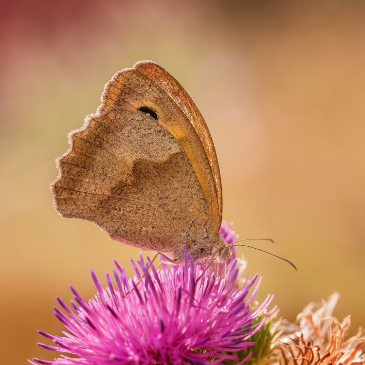
<path fill-rule="evenodd" d="M 365 325 L 364 1 L 8 1 L 0 8 L 1 362 L 52 359 L 37 329 L 60 333 L 55 296 L 86 298 L 115 257 L 139 250 L 64 219 L 49 183 L 67 134 L 117 71 L 152 59 L 177 78 L 210 128 L 223 218 L 238 250 L 294 320 L 341 293 L 335 314 Z M 105 283 L 105 281 L 103 281 Z"/>

